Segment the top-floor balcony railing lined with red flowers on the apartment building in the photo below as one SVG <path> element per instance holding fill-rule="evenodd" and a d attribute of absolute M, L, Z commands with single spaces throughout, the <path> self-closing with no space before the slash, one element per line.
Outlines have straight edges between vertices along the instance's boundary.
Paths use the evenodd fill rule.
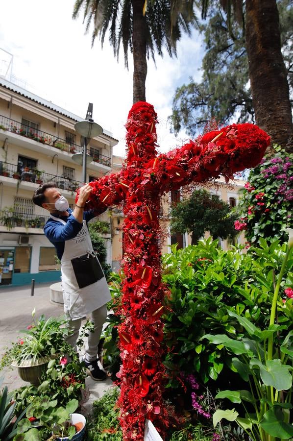
<path fill-rule="evenodd" d="M 58 138 L 55 135 L 43 132 L 42 130 L 36 130 L 28 125 L 19 123 L 18 121 L 12 120 L 11 118 L 4 117 L 0 115 L 0 129 L 8 130 L 12 133 L 17 133 L 18 135 L 24 136 L 25 138 L 32 139 L 41 144 L 46 144 L 50 147 L 58 148 L 62 151 L 67 151 L 68 153 L 82 153 L 83 147 L 78 146 L 75 143 L 68 143 L 65 139 Z M 102 155 L 99 151 L 93 147 L 87 149 L 88 154 L 94 151 L 93 161 L 103 164 L 107 167 L 111 167 L 111 158 Z M 95 153 L 96 152 L 96 153 Z"/>

